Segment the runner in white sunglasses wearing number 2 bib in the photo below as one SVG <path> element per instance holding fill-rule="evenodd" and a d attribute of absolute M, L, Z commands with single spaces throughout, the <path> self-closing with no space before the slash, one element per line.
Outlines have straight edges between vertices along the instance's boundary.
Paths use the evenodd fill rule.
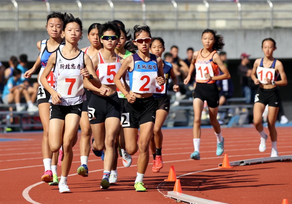
<path fill-rule="evenodd" d="M 127 57 L 120 70 L 114 77 L 114 83 L 124 94 L 128 102 L 124 104 L 121 117 L 124 127 L 126 150 L 133 155 L 139 149 L 137 163 L 137 177 L 135 180 L 136 191 L 146 191 L 142 183 L 149 162 L 149 142 L 152 136 L 156 106 L 152 94 L 159 86 L 165 84 L 161 57 L 149 53 L 152 42 L 150 27 L 147 25 L 134 27 L 133 43 L 138 46 L 138 53 Z M 130 92 L 123 87 L 121 78 L 128 70 Z M 137 133 L 140 127 L 139 146 Z"/>

